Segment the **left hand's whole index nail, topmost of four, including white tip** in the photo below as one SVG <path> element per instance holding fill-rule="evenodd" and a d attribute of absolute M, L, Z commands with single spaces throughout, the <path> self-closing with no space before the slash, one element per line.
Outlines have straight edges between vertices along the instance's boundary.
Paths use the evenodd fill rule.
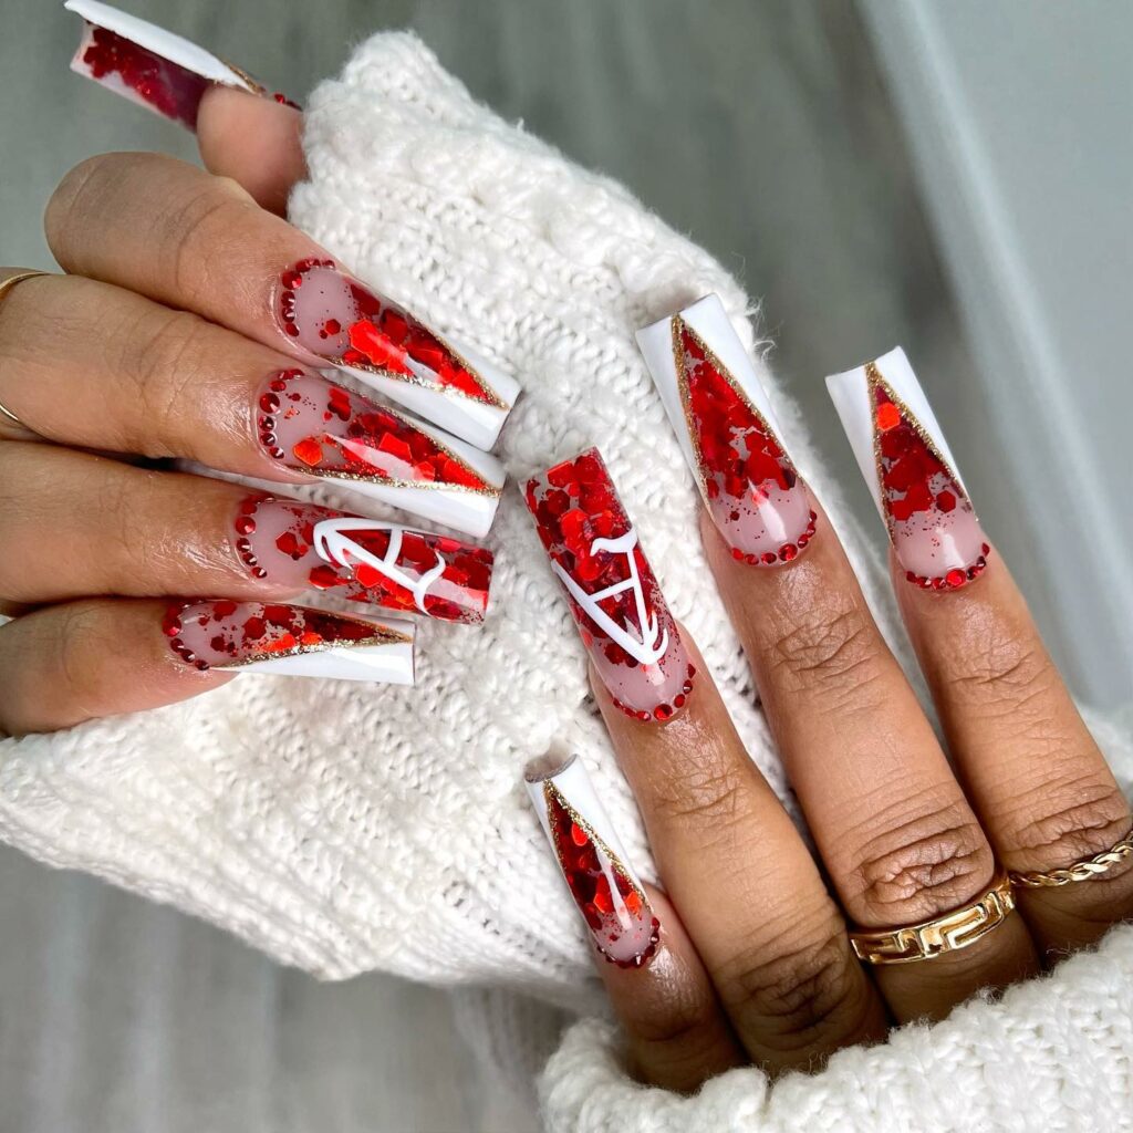
<path fill-rule="evenodd" d="M 468 348 L 441 339 L 333 259 L 280 276 L 278 315 L 292 342 L 478 449 L 491 449 L 519 385 Z"/>

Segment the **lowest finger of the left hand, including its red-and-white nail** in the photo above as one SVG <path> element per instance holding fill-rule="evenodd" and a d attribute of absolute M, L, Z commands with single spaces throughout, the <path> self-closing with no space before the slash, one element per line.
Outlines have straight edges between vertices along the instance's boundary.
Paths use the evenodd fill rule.
<path fill-rule="evenodd" d="M 229 599 L 86 598 L 0 627 L 0 730 L 186 700 L 241 673 L 412 681 L 411 628 Z"/>

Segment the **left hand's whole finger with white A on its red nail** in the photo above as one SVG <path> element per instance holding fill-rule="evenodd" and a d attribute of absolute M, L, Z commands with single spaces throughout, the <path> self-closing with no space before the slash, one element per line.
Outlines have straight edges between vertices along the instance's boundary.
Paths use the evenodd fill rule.
<path fill-rule="evenodd" d="M 0 480 L 8 602 L 332 594 L 459 622 L 487 607 L 492 553 L 448 536 L 49 445 L 0 445 Z"/>

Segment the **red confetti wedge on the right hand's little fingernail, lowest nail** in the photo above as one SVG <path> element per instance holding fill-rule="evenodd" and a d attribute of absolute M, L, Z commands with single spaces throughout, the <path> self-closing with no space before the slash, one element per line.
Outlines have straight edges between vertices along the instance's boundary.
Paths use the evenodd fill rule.
<path fill-rule="evenodd" d="M 559 864 L 598 949 L 619 968 L 641 966 L 661 937 L 644 891 L 553 783 L 544 796 Z"/>

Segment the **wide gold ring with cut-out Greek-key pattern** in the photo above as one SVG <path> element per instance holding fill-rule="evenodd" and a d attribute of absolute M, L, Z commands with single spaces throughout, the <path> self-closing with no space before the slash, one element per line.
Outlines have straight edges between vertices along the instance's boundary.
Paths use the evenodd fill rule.
<path fill-rule="evenodd" d="M 853 929 L 850 944 L 858 959 L 867 964 L 914 964 L 982 940 L 1011 915 L 1014 908 L 1011 878 L 1003 867 L 996 867 L 988 888 L 962 909 L 904 928 L 876 932 Z"/>

